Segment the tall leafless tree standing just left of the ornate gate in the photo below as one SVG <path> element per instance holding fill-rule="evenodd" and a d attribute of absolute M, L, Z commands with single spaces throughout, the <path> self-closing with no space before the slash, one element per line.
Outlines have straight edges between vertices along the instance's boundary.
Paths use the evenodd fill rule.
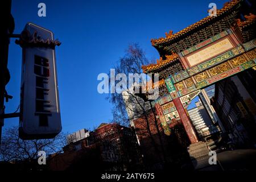
<path fill-rule="evenodd" d="M 145 53 L 139 47 L 139 45 L 132 44 L 126 50 L 126 54 L 121 57 L 117 62 L 117 65 L 115 65 L 115 75 L 117 75 L 118 73 L 124 73 L 127 76 L 129 75 L 129 73 L 140 74 L 142 73 L 142 65 L 147 65 L 149 63 L 150 61 L 148 61 Z M 117 84 L 117 82 L 118 81 L 115 81 L 115 84 Z M 160 126 L 155 117 L 154 108 L 152 108 L 152 105 L 150 105 L 149 101 L 143 100 L 142 97 L 130 93 L 127 88 L 122 89 L 122 94 L 110 93 L 108 97 L 108 100 L 113 104 L 113 122 L 127 126 L 130 124 L 131 120 L 141 118 L 143 121 L 141 125 L 144 125 L 145 127 L 144 129 L 139 129 L 140 131 L 137 134 L 149 137 L 151 139 L 152 146 L 154 146 L 156 152 L 158 152 L 158 147 L 150 129 L 150 120 L 154 121 L 163 154 L 163 161 L 165 161 L 166 157 L 164 154 L 162 137 L 160 135 Z M 124 98 L 126 99 L 124 100 Z M 154 117 L 150 116 L 151 112 L 153 113 Z"/>

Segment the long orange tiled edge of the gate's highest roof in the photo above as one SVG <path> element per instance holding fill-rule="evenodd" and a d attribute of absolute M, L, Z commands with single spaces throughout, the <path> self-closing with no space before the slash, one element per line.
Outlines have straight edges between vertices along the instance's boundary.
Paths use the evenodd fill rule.
<path fill-rule="evenodd" d="M 224 14 L 226 11 L 232 9 L 235 5 L 237 5 L 241 0 L 233 0 L 229 3 L 225 3 L 224 7 L 220 10 L 217 10 L 217 16 L 220 16 Z M 159 39 L 151 39 L 152 46 L 155 46 L 157 44 L 166 43 L 170 40 L 174 40 L 175 38 L 178 38 L 181 35 L 187 34 L 189 31 L 194 30 L 195 28 L 208 23 L 210 20 L 215 19 L 216 16 L 207 16 L 204 19 L 201 19 L 199 22 L 196 22 L 192 24 L 191 26 L 184 28 L 183 30 L 177 32 L 176 34 L 172 34 L 172 31 L 170 31 L 168 34 L 166 33 L 166 38 L 159 38 Z"/>

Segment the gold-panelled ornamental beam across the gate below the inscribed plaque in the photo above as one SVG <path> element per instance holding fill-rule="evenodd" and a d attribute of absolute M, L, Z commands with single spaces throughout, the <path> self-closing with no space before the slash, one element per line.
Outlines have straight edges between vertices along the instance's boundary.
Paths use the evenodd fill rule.
<path fill-rule="evenodd" d="M 181 98 L 183 96 L 187 96 L 188 94 L 191 94 L 199 89 L 203 89 L 206 86 L 214 84 L 214 82 L 220 81 L 229 76 L 236 75 L 237 73 L 246 69 L 254 68 L 256 66 L 255 62 L 256 49 L 254 48 L 249 52 L 242 53 L 242 55 L 227 60 L 224 63 L 216 65 L 215 67 L 211 67 L 210 69 L 207 69 L 189 78 L 183 77 L 183 75 L 188 74 L 187 71 L 175 73 L 175 75 L 171 75 L 166 80 L 164 80 L 169 94 L 159 98 L 156 100 L 156 102 L 158 102 L 161 106 L 166 104 L 164 107 L 162 107 L 164 115 L 169 114 L 174 110 L 171 105 L 168 104 L 168 102 L 171 102 L 177 97 Z"/>

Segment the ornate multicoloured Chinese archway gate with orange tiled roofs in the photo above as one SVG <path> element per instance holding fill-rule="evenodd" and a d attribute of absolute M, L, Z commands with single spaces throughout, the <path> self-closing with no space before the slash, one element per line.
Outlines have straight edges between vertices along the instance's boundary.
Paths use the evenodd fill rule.
<path fill-rule="evenodd" d="M 243 1 L 232 1 L 218 10 L 166 38 L 151 40 L 158 49 L 156 64 L 144 65 L 144 73 L 159 73 L 160 97 L 152 102 L 163 126 L 180 117 L 191 143 L 198 142 L 185 107 L 206 88 L 246 69 L 255 69 L 255 19 L 247 13 L 241 21 Z M 249 11 L 250 9 L 247 8 Z M 164 127 L 164 133 L 170 134 Z"/>

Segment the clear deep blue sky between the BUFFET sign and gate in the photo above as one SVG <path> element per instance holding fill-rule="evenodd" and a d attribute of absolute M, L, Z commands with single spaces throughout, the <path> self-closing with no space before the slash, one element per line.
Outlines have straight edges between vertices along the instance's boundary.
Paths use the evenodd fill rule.
<path fill-rule="evenodd" d="M 15 31 L 27 22 L 55 33 L 60 110 L 64 132 L 93 128 L 112 119 L 111 104 L 97 92 L 97 76 L 108 73 L 131 43 L 139 43 L 148 59 L 158 59 L 151 38 L 180 31 L 208 15 L 210 2 L 220 9 L 225 1 L 55 1 L 13 0 Z M 38 3 L 46 3 L 46 17 L 38 16 Z M 7 92 L 14 96 L 6 113 L 19 105 L 22 49 L 11 40 Z M 5 119 L 6 129 L 18 126 L 18 118 Z"/>

